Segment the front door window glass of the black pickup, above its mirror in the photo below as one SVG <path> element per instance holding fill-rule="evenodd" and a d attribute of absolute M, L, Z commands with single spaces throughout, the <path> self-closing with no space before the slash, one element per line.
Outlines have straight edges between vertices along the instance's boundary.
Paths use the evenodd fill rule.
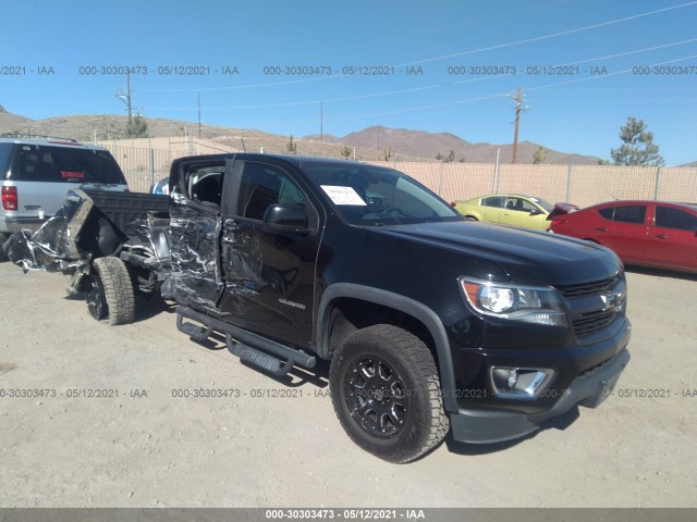
<path fill-rule="evenodd" d="M 245 163 L 237 207 L 241 216 L 262 221 L 272 204 L 304 206 L 305 201 L 305 195 L 285 172 L 272 165 Z"/>

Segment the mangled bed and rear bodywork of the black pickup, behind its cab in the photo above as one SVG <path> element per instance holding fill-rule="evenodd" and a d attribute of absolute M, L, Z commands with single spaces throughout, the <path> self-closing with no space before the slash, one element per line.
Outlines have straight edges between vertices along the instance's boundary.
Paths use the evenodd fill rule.
<path fill-rule="evenodd" d="M 137 288 L 154 291 L 169 268 L 168 197 L 103 190 L 71 190 L 65 204 L 34 234 L 20 231 L 2 251 L 28 271 L 71 276 L 69 294 L 88 291 L 100 258 L 127 262 Z M 124 269 L 125 270 L 125 269 Z"/>

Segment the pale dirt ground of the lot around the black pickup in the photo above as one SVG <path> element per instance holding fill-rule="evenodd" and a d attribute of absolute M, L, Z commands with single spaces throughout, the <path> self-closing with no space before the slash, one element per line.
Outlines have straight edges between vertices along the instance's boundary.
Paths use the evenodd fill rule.
<path fill-rule="evenodd" d="M 157 300 L 110 327 L 2 263 L 0 507 L 697 507 L 697 278 L 628 282 L 633 359 L 600 408 L 394 465 L 343 433 L 327 368 L 273 380 Z M 175 397 L 196 389 L 229 397 Z"/>

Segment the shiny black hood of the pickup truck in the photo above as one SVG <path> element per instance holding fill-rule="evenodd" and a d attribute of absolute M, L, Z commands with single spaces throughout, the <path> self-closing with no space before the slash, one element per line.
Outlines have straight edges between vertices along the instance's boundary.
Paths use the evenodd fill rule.
<path fill-rule="evenodd" d="M 614 252 L 599 245 L 491 223 L 421 223 L 372 231 L 458 252 L 478 266 L 489 261 L 499 269 L 489 276 L 505 274 L 515 283 L 570 285 L 610 277 L 622 270 Z"/>

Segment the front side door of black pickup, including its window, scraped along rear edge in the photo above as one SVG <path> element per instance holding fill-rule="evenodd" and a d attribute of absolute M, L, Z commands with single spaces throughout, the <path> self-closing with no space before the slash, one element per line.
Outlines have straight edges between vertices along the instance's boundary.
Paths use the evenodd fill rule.
<path fill-rule="evenodd" d="M 320 240 L 316 207 L 295 175 L 271 162 L 236 160 L 233 178 L 222 222 L 221 311 L 246 330 L 310 343 Z M 273 223 L 270 214 L 278 209 L 294 209 L 304 225 Z"/>

